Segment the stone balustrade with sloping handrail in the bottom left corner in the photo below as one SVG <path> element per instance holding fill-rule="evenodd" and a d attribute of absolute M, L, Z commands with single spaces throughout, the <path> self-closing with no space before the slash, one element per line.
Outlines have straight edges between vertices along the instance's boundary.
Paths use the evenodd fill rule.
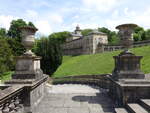
<path fill-rule="evenodd" d="M 0 86 L 3 87 L 3 86 Z M 0 113 L 18 113 L 22 111 L 23 86 L 8 86 L 0 93 Z"/>

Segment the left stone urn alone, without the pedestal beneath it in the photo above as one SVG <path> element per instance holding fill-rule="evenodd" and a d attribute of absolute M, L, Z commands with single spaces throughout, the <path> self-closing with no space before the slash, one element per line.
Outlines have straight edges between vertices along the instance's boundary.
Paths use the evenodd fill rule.
<path fill-rule="evenodd" d="M 24 53 L 24 55 L 33 56 L 34 53 L 32 53 L 31 49 L 35 42 L 34 35 L 38 29 L 26 26 L 21 27 L 20 30 L 22 32 L 22 44 L 26 48 L 26 52 Z"/>

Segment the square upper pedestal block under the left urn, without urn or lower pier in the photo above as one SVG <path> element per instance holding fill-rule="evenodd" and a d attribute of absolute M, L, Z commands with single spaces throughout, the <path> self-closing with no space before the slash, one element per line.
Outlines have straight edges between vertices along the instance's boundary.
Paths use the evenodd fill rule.
<path fill-rule="evenodd" d="M 12 79 L 39 79 L 43 75 L 40 59 L 38 56 L 16 57 L 16 69 Z"/>

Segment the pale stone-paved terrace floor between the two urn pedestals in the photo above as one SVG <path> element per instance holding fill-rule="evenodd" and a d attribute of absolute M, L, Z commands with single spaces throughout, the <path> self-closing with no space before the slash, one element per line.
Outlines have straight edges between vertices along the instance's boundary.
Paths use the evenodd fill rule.
<path fill-rule="evenodd" d="M 107 91 L 95 86 L 64 84 L 46 87 L 35 113 L 113 113 Z"/>

